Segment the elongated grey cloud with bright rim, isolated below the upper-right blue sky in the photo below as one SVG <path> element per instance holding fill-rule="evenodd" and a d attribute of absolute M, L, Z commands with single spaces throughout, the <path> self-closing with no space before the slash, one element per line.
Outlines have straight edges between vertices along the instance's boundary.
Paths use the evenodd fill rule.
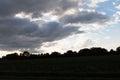
<path fill-rule="evenodd" d="M 60 18 L 63 23 L 100 23 L 103 24 L 109 21 L 110 18 L 107 15 L 98 13 L 95 11 L 80 11 L 75 14 L 64 15 Z"/>

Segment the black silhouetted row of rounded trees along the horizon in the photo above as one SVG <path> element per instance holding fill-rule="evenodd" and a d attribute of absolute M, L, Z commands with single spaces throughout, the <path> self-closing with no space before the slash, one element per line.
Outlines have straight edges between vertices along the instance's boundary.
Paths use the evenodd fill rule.
<path fill-rule="evenodd" d="M 120 47 L 117 47 L 116 50 L 111 49 L 108 51 L 105 48 L 101 47 L 93 47 L 93 48 L 85 48 L 81 49 L 78 52 L 68 50 L 64 54 L 60 52 L 52 52 L 49 53 L 41 53 L 41 54 L 31 54 L 28 51 L 24 51 L 23 53 L 11 53 L 3 56 L 1 59 L 3 60 L 24 60 L 24 59 L 40 59 L 40 58 L 54 58 L 54 57 L 78 57 L 78 56 L 100 56 L 100 55 L 119 55 Z"/>

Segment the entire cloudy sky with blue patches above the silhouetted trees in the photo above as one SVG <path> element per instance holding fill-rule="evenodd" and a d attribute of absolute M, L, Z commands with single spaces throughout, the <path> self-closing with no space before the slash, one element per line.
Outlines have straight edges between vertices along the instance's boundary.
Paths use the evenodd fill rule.
<path fill-rule="evenodd" d="M 0 0 L 0 56 L 120 46 L 119 0 Z"/>

